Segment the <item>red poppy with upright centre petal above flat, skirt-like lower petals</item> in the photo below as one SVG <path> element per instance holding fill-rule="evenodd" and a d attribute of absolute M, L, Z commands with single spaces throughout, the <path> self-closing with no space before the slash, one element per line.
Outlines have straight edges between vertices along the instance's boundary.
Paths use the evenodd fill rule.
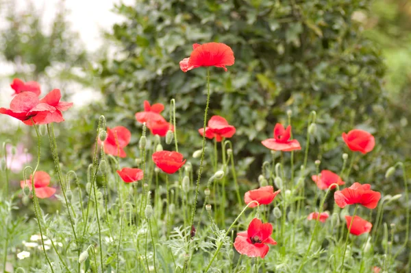
<path fill-rule="evenodd" d="M 284 129 L 282 124 L 275 124 L 274 128 L 274 139 L 266 139 L 261 141 L 262 145 L 275 151 L 290 152 L 294 150 L 301 150 L 301 146 L 297 139 L 290 140 L 291 137 L 291 126 Z"/>

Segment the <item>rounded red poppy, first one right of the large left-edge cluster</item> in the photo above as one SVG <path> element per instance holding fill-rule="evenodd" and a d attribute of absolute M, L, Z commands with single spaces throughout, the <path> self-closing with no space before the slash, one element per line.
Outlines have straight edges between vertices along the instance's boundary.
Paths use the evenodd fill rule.
<path fill-rule="evenodd" d="M 117 126 L 112 129 L 107 127 L 107 139 L 104 141 L 104 152 L 113 156 L 124 158 L 127 156 L 123 148 L 128 145 L 132 133 L 123 126 Z"/>

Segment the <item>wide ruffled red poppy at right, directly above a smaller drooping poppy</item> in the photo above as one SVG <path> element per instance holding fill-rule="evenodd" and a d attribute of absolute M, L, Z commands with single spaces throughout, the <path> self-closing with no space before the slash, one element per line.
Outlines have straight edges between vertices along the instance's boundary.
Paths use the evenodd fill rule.
<path fill-rule="evenodd" d="M 378 204 L 381 193 L 372 191 L 371 185 L 355 182 L 351 187 L 343 189 L 343 191 L 336 191 L 334 193 L 334 200 L 340 208 L 344 208 L 349 204 L 362 204 L 369 209 L 375 209 Z"/>

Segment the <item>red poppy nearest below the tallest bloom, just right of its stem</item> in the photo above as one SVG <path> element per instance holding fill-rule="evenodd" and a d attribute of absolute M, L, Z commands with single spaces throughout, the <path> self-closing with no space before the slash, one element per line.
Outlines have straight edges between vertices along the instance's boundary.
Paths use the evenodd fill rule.
<path fill-rule="evenodd" d="M 199 133 L 203 136 L 204 128 L 199 129 Z M 220 116 L 212 116 L 208 121 L 208 126 L 206 127 L 206 138 L 214 139 L 221 142 L 223 138 L 230 138 L 236 133 L 236 128 L 229 125 L 227 120 Z"/>

